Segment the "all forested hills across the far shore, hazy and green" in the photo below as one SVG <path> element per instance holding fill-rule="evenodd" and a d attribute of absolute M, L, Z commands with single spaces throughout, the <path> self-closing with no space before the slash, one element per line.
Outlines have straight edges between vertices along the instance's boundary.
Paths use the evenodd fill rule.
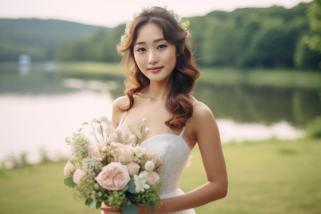
<path fill-rule="evenodd" d="M 312 3 L 187 17 L 197 64 L 320 71 L 321 51 L 314 47 L 316 43 L 311 45 L 311 37 L 321 36 L 320 29 L 311 27 Z M 0 27 L 0 61 L 15 61 L 17 54 L 27 53 L 33 61 L 115 62 L 115 46 L 125 24 L 110 29 L 64 21 L 0 19 Z"/>

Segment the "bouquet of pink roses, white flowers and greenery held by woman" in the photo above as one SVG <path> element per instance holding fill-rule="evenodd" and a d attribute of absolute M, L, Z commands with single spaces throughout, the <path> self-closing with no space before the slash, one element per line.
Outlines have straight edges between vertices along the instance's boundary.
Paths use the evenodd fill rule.
<path fill-rule="evenodd" d="M 71 157 L 64 168 L 68 176 L 64 184 L 71 187 L 75 200 L 97 209 L 104 202 L 114 209 L 123 208 L 124 214 L 137 213 L 135 204 L 154 211 L 162 203 L 157 194 L 157 169 L 162 160 L 139 146 L 146 121 L 139 127 L 130 125 L 131 132 L 125 132 L 102 117 L 84 123 L 66 138 Z M 144 134 L 149 133 L 145 128 Z"/>

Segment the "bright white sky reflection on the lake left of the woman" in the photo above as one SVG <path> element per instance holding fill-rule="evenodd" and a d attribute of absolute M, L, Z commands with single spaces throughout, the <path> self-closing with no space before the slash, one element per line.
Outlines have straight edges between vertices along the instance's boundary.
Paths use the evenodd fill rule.
<path fill-rule="evenodd" d="M 108 93 L 81 91 L 57 95 L 0 95 L 0 160 L 22 151 L 31 162 L 39 149 L 50 158 L 69 153 L 65 138 L 85 121 L 110 117 L 113 98 Z"/>

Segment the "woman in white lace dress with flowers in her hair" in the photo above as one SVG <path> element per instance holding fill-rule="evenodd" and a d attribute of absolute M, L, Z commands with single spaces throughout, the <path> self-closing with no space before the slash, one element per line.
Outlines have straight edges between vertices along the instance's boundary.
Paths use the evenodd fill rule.
<path fill-rule="evenodd" d="M 194 207 L 224 198 L 227 173 L 211 110 L 191 95 L 199 71 L 190 48 L 188 21 L 166 8 L 145 8 L 127 24 L 117 50 L 128 69 L 126 96 L 113 104 L 114 127 L 127 129 L 147 119 L 151 134 L 142 147 L 163 160 L 159 167 L 162 205 L 154 212 L 195 213 Z M 198 144 L 207 182 L 184 193 L 177 189 L 191 149 Z M 103 205 L 104 213 L 116 213 Z"/>

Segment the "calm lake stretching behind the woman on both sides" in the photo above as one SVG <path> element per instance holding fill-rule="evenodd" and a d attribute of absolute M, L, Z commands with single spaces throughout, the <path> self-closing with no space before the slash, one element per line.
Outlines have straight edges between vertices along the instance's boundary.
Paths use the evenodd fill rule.
<path fill-rule="evenodd" d="M 65 157 L 65 138 L 83 122 L 110 118 L 122 82 L 61 78 L 51 68 L 0 64 L 0 161 L 26 151 L 28 161 L 37 162 L 40 149 L 51 159 Z M 304 124 L 321 114 L 312 89 L 202 83 L 195 96 L 213 111 L 222 143 L 297 139 L 304 136 Z"/>

